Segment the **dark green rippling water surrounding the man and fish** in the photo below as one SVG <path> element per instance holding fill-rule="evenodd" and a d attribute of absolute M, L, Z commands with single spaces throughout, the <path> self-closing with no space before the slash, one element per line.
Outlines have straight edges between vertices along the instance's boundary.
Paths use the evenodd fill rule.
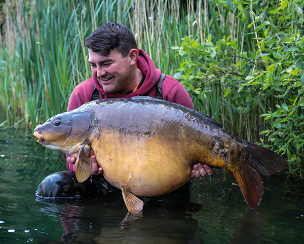
<path fill-rule="evenodd" d="M 145 198 L 142 215 L 130 215 L 120 193 L 39 201 L 37 186 L 62 170 L 64 155 L 35 143 L 30 131 L 0 130 L 1 243 L 304 242 L 304 191 L 284 173 L 263 177 L 257 210 L 229 172 L 224 178 L 214 169 L 212 177 Z"/>

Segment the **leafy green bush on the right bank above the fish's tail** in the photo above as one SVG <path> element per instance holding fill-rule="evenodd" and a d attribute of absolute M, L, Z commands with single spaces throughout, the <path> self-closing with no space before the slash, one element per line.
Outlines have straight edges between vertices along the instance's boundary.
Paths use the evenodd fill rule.
<path fill-rule="evenodd" d="M 234 9 L 231 5 L 224 8 Z M 252 10 L 242 6 L 239 9 L 247 13 Z M 231 36 L 214 40 L 212 33 L 204 43 L 186 36 L 180 47 L 172 47 L 178 51 L 177 56 L 183 57 L 175 77 L 195 97 L 196 109 L 221 122 L 226 130 L 249 141 L 260 141 L 283 154 L 289 164 L 289 175 L 301 181 L 302 9 L 301 1 L 283 0 L 267 13 L 252 12 L 253 21 L 247 25 L 249 32 L 243 33 L 256 42 L 251 49 Z M 236 18 L 243 19 L 242 14 Z M 254 32 L 250 33 L 252 27 Z"/>

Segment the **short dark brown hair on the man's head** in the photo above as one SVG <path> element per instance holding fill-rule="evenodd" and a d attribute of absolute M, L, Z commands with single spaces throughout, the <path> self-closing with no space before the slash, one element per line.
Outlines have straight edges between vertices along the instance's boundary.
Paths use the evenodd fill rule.
<path fill-rule="evenodd" d="M 84 41 L 86 47 L 95 53 L 108 56 L 115 50 L 126 57 L 131 49 L 137 49 L 133 33 L 121 23 L 109 22 L 94 30 Z"/>

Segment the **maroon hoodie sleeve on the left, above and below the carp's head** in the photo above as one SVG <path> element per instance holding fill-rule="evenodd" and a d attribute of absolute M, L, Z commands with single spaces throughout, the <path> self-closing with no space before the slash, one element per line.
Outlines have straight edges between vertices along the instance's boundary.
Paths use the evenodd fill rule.
<path fill-rule="evenodd" d="M 77 109 L 88 101 L 91 101 L 92 93 L 94 90 L 94 84 L 92 78 L 83 81 L 72 91 L 72 94 L 68 101 L 67 111 Z M 66 154 L 66 158 L 69 155 Z M 66 161 L 66 167 L 69 171 L 75 172 L 76 167 L 74 164 Z"/>

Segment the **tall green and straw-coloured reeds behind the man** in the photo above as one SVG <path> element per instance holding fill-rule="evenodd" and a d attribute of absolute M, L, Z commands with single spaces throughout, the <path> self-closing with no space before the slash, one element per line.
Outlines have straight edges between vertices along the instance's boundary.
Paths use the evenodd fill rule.
<path fill-rule="evenodd" d="M 163 73 L 173 75 L 181 57 L 171 49 L 186 35 L 205 43 L 230 36 L 239 50 L 254 52 L 250 5 L 247 12 L 237 4 L 207 0 L 7 0 L 0 69 L 0 103 L 7 112 L 7 126 L 26 118 L 33 128 L 37 123 L 66 110 L 69 95 L 81 81 L 91 77 L 83 40 L 101 24 L 117 21 L 135 34 L 143 48 Z M 239 8 L 239 9 L 238 9 Z M 256 11 L 256 10 L 255 10 Z M 245 13 L 245 17 L 242 14 Z M 10 44 L 10 45 L 8 45 Z M 227 53 L 234 54 L 229 47 Z M 233 57 L 237 63 L 240 57 Z M 254 66 L 252 66 L 254 70 Z M 264 101 L 250 113 L 240 112 L 233 94 L 223 97 L 225 83 L 211 85 L 208 99 L 194 97 L 195 109 L 213 116 L 224 128 L 249 141 L 259 141 L 263 129 L 259 115 Z M 229 86 L 228 85 L 228 86 Z M 244 93 L 245 94 L 245 93 Z M 244 107 L 251 106 L 243 104 Z M 0 122 L 1 123 L 1 122 Z"/>

